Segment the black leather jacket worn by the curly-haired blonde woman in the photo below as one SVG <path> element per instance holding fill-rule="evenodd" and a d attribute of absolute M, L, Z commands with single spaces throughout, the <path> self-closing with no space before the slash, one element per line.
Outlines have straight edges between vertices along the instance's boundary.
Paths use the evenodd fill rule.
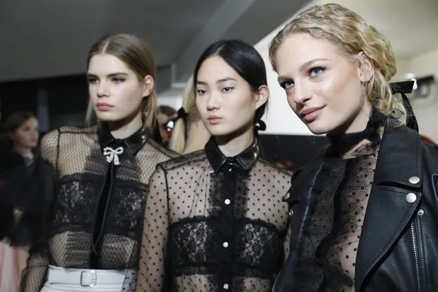
<path fill-rule="evenodd" d="M 300 291 L 291 271 L 310 217 L 315 161 L 289 189 L 291 252 L 273 291 Z M 409 127 L 382 137 L 356 256 L 357 292 L 438 291 L 438 146 Z M 308 291 L 312 292 L 312 291 Z"/>

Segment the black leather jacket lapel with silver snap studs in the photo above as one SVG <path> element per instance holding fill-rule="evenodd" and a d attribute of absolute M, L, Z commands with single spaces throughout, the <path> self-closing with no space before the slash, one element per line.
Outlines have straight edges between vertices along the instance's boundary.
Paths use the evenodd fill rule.
<path fill-rule="evenodd" d="M 382 137 L 356 256 L 356 291 L 411 221 L 422 193 L 419 134 L 406 126 Z"/>

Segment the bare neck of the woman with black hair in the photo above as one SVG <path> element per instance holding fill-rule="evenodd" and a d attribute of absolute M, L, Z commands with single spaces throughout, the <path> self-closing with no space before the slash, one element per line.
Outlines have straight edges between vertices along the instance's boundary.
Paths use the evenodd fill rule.
<path fill-rule="evenodd" d="M 243 133 L 215 136 L 215 141 L 223 155 L 227 157 L 239 155 L 254 141 L 254 127 L 250 127 Z"/>

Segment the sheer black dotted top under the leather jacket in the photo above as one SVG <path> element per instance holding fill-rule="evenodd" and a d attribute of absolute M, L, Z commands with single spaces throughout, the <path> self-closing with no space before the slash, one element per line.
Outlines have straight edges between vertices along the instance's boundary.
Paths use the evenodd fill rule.
<path fill-rule="evenodd" d="M 317 199 L 291 271 L 292 292 L 354 291 L 356 252 L 385 119 L 374 111 L 364 131 L 328 137 L 331 145 L 312 188 Z"/>

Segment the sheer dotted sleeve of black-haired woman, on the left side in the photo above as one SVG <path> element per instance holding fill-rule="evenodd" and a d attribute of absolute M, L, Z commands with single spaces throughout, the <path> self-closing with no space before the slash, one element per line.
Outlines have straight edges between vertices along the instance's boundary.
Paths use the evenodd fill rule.
<path fill-rule="evenodd" d="M 158 165 L 149 181 L 143 239 L 138 269 L 137 292 L 162 291 L 165 284 L 165 256 L 169 228 L 167 178 Z"/>

